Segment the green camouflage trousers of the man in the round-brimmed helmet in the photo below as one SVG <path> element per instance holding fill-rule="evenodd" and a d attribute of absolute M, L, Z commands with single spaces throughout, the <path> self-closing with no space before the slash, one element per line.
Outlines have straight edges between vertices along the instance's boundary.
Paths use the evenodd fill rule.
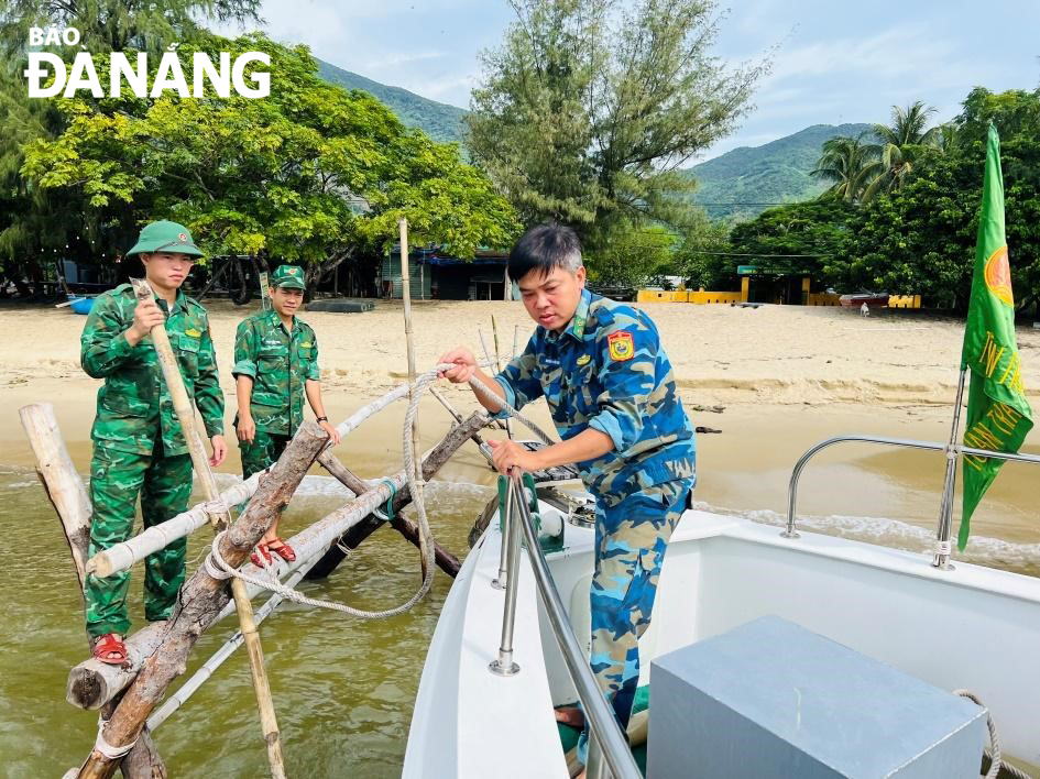
<path fill-rule="evenodd" d="M 188 454 L 163 456 L 162 441 L 151 454 L 121 452 L 97 442 L 90 461 L 89 555 L 125 541 L 133 533 L 138 493 L 144 527 L 166 522 L 188 507 L 191 494 L 191 458 Z M 187 539 L 180 538 L 144 560 L 144 616 L 150 622 L 165 619 L 177 601 L 184 583 L 184 557 Z M 87 633 L 102 636 L 130 629 L 127 592 L 130 572 L 103 579 L 89 574 L 84 584 Z"/>

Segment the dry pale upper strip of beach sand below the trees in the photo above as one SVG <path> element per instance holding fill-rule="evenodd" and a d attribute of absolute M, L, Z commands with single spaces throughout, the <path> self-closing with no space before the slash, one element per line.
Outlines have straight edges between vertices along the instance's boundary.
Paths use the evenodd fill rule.
<path fill-rule="evenodd" d="M 230 374 L 234 329 L 258 304 L 210 301 L 221 383 L 233 416 Z M 856 406 L 949 405 L 956 386 L 963 323 L 913 311 L 862 317 L 841 308 L 647 304 L 690 406 L 778 404 Z M 420 370 L 447 348 L 479 352 L 483 331 L 493 349 L 492 317 L 503 358 L 514 334 L 523 349 L 533 331 L 518 303 L 418 303 L 416 360 Z M 318 334 L 321 376 L 330 405 L 376 397 L 406 375 L 403 307 L 380 301 L 365 314 L 306 312 Z M 73 423 L 70 440 L 88 437 L 99 382 L 79 367 L 85 317 L 67 309 L 0 308 L 0 387 L 9 408 L 31 401 L 59 404 Z M 1019 327 L 1023 378 L 1040 399 L 1040 330 Z M 0 440 L 11 440 L 11 415 Z M 86 430 L 86 432 L 85 432 Z M 20 435 L 13 438 L 20 438 Z"/>

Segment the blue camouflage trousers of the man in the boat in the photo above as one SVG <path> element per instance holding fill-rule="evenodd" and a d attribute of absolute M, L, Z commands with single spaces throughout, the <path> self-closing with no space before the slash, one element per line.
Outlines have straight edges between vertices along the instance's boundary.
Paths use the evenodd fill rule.
<path fill-rule="evenodd" d="M 596 501 L 592 574 L 592 672 L 624 731 L 639 681 L 639 637 L 650 625 L 668 539 L 687 508 L 692 480 L 657 484 L 616 506 Z M 578 755 L 584 762 L 588 728 Z"/>

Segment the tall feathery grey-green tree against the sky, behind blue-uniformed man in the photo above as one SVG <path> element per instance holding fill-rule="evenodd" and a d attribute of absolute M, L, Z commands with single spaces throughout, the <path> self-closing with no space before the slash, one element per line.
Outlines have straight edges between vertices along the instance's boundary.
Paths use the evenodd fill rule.
<path fill-rule="evenodd" d="M 679 166 L 732 130 L 764 66 L 712 56 L 711 0 L 512 4 L 467 123 L 523 221 L 570 223 L 592 249 L 627 226 L 681 222 Z"/>

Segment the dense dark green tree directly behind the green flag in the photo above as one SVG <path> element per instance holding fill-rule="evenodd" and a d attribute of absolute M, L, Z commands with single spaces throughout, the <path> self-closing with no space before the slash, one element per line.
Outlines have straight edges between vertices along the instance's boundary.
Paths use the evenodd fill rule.
<path fill-rule="evenodd" d="M 1040 296 L 1040 90 L 976 88 L 943 149 L 924 149 L 898 191 L 850 222 L 853 239 L 833 268 L 847 285 L 919 293 L 964 310 L 971 290 L 989 122 L 1000 134 L 1011 276 L 1020 306 Z"/>

